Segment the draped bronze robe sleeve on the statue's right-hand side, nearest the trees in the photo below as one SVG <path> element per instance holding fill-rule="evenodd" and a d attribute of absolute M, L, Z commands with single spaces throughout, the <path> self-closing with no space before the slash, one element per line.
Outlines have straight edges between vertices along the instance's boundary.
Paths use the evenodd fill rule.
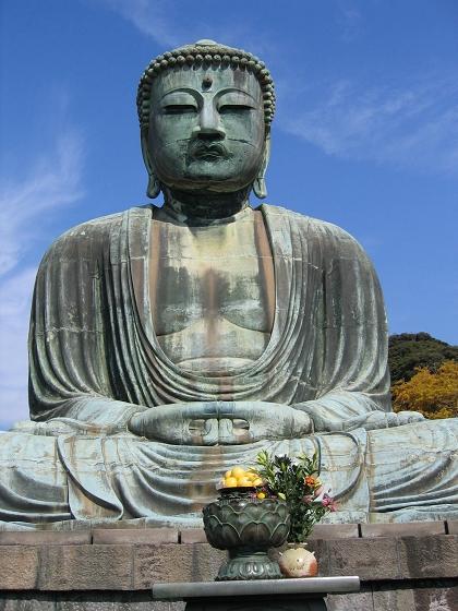
<path fill-rule="evenodd" d="M 366 421 L 388 426 L 388 333 L 381 285 L 360 244 L 343 230 L 327 228 L 318 383 L 314 399 L 294 407 L 309 414 L 316 431 L 352 430 Z"/>

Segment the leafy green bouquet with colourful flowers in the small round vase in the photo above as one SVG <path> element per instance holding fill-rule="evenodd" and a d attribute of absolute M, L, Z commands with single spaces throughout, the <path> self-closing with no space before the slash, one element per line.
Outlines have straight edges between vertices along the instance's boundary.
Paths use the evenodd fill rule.
<path fill-rule="evenodd" d="M 255 470 L 269 492 L 284 499 L 288 505 L 291 515 L 288 541 L 305 541 L 314 524 L 327 512 L 336 510 L 334 500 L 323 493 L 316 453 L 312 458 L 301 454 L 292 460 L 289 456 L 274 456 L 263 451 L 256 456 L 256 463 Z"/>

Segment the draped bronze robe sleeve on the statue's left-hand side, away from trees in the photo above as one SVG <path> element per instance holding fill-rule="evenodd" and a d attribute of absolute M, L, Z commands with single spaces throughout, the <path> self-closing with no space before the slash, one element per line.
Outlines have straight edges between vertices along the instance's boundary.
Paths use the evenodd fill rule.
<path fill-rule="evenodd" d="M 117 400 L 108 373 L 108 223 L 96 221 L 70 230 L 39 266 L 28 335 L 32 420 L 64 418 L 117 431 L 146 409 Z"/>

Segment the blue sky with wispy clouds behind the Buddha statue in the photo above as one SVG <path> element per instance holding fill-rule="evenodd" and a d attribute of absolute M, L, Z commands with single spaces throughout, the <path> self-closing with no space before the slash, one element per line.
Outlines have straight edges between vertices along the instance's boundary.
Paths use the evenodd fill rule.
<path fill-rule="evenodd" d="M 267 201 L 330 220 L 375 263 L 391 333 L 458 344 L 455 0 L 3 0 L 0 423 L 27 416 L 37 264 L 69 227 L 146 203 L 148 61 L 200 38 L 277 85 Z"/>

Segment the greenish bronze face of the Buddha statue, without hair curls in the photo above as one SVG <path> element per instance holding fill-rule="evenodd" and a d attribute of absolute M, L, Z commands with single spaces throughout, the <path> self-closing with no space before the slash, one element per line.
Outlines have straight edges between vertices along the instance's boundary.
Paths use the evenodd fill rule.
<path fill-rule="evenodd" d="M 147 164 L 162 184 L 230 193 L 250 185 L 263 164 L 263 96 L 253 74 L 231 68 L 181 68 L 155 79 Z"/>

